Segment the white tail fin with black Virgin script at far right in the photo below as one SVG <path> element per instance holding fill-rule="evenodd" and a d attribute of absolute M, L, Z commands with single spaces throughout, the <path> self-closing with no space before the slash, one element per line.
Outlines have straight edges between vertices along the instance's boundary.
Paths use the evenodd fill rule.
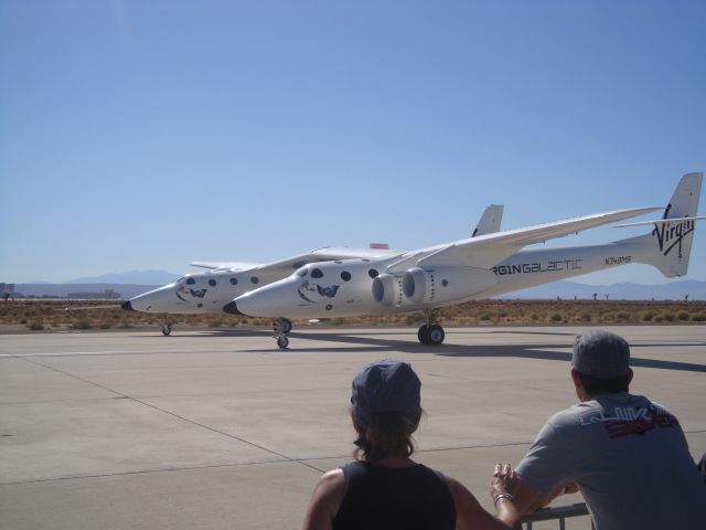
<path fill-rule="evenodd" d="M 696 215 L 703 179 L 704 173 L 687 173 L 682 177 L 662 219 L 621 225 L 653 226 L 652 232 L 633 241 L 649 248 L 645 257 L 640 261 L 653 265 L 667 278 L 684 276 L 688 269 L 696 221 L 706 219 Z"/>

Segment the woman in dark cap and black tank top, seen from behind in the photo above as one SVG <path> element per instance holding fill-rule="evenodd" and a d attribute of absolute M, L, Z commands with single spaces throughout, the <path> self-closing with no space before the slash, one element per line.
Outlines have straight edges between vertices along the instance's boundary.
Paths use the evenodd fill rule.
<path fill-rule="evenodd" d="M 324 474 L 304 518 L 304 530 L 507 529 L 520 516 L 507 492 L 510 465 L 495 466 L 490 486 L 495 516 L 458 480 L 417 464 L 411 434 L 421 418 L 421 382 L 406 362 L 373 362 L 353 380 L 351 417 L 359 434 L 356 460 Z"/>

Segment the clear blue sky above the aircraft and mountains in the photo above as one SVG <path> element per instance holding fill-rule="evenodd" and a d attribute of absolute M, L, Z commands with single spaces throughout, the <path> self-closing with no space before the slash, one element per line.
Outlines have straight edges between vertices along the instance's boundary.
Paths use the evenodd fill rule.
<path fill-rule="evenodd" d="M 0 280 L 664 205 L 706 170 L 704 28 L 703 1 L 0 0 Z"/>

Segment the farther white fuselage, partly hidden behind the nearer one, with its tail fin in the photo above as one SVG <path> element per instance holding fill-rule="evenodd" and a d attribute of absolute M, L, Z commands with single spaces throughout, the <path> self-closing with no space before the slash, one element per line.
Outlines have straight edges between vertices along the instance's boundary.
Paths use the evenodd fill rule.
<path fill-rule="evenodd" d="M 489 234 L 500 230 L 503 206 L 491 204 L 485 209 L 474 235 Z M 214 263 L 193 262 L 191 265 L 207 268 L 206 273 L 188 274 L 176 282 L 130 298 L 122 309 L 141 312 L 200 315 L 221 314 L 223 306 L 253 289 L 269 285 L 289 276 L 306 264 L 317 262 L 359 259 L 382 259 L 397 256 L 400 251 L 391 251 L 386 244 L 371 243 L 370 248 L 329 247 L 317 248 L 274 263 Z M 289 332 L 291 320 L 276 320 L 276 331 Z M 162 333 L 172 332 L 171 324 L 162 326 Z"/>

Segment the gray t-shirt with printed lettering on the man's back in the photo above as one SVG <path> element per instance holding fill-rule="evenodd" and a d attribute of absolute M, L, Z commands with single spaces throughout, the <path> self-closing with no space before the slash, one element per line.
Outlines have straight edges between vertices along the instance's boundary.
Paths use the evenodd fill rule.
<path fill-rule="evenodd" d="M 706 526 L 706 486 L 682 427 L 641 395 L 600 394 L 555 414 L 517 474 L 545 495 L 578 483 L 598 530 Z"/>

